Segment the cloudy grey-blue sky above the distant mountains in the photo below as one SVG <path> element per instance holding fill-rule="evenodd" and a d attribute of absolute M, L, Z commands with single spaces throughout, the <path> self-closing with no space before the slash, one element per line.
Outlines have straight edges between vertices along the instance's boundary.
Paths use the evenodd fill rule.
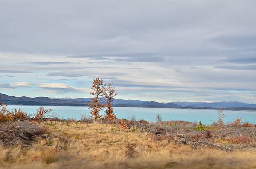
<path fill-rule="evenodd" d="M 0 93 L 256 103 L 255 0 L 0 0 Z"/>

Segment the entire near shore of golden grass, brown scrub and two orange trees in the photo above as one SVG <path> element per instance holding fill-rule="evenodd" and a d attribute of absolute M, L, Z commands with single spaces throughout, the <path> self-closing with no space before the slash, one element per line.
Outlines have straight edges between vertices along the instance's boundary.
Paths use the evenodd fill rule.
<path fill-rule="evenodd" d="M 2 169 L 252 169 L 256 168 L 256 125 L 237 118 L 217 123 L 117 119 L 113 85 L 93 79 L 91 116 L 58 119 L 39 107 L 33 115 L 0 103 Z M 102 96 L 107 105 L 102 104 Z M 99 111 L 105 110 L 104 115 Z M 218 115 L 218 116 L 217 116 Z"/>

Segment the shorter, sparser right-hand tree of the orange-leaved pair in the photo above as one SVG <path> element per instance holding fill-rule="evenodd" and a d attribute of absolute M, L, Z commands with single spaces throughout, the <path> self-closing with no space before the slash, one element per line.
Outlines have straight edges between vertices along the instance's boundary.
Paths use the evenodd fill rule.
<path fill-rule="evenodd" d="M 115 87 L 113 86 L 113 83 L 110 82 L 106 86 L 106 91 L 104 93 L 104 96 L 107 100 L 107 110 L 105 110 L 105 118 L 107 120 L 115 120 L 116 114 L 113 114 L 113 107 L 112 107 L 112 101 L 114 101 L 114 97 L 118 94 Z"/>

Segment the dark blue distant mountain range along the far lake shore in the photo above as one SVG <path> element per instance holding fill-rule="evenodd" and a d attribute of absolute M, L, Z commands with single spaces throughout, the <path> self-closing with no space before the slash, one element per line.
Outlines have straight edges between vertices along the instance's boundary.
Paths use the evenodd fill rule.
<path fill-rule="evenodd" d="M 0 94 L 1 100 L 7 105 L 37 105 L 37 106 L 86 106 L 90 98 L 49 98 L 49 97 L 15 97 Z M 151 108 L 191 108 L 191 109 L 216 109 L 230 110 L 256 110 L 256 104 L 248 104 L 237 101 L 222 102 L 170 102 L 159 103 L 156 101 L 123 100 L 115 99 L 113 107 L 151 107 Z"/>

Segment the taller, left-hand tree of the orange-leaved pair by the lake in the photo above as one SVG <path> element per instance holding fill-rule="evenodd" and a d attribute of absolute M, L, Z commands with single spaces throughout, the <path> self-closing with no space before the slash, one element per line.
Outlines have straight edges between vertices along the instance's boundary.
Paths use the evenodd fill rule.
<path fill-rule="evenodd" d="M 103 84 L 103 80 L 100 78 L 93 79 L 93 85 L 90 87 L 93 91 L 90 92 L 94 97 L 91 99 L 92 101 L 87 104 L 89 109 L 91 109 L 90 113 L 94 117 L 94 120 L 99 119 L 102 115 L 99 114 L 101 110 L 104 109 L 105 104 L 102 104 L 103 95 L 106 91 L 105 84 Z"/>

